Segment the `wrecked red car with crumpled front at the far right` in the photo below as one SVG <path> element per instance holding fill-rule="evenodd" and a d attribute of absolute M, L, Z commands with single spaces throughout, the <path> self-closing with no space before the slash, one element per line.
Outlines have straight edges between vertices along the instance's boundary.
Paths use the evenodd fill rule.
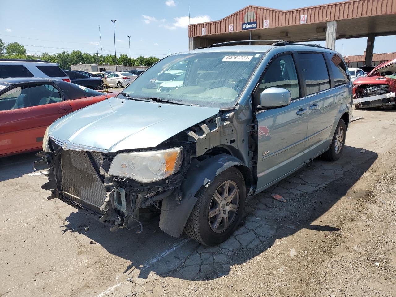
<path fill-rule="evenodd" d="M 367 77 L 355 80 L 353 85 L 356 109 L 395 107 L 396 59 L 381 63 Z"/>

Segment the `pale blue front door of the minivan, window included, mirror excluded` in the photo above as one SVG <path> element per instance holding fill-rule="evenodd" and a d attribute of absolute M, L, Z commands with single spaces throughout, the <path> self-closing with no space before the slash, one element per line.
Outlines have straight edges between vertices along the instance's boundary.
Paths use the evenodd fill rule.
<path fill-rule="evenodd" d="M 292 53 L 282 53 L 272 59 L 256 90 L 258 97 L 263 90 L 271 87 L 287 89 L 291 94 L 289 105 L 255 112 L 258 126 L 258 191 L 283 179 L 302 164 L 307 140 L 308 101 L 301 97 L 301 81 L 294 60 Z"/>

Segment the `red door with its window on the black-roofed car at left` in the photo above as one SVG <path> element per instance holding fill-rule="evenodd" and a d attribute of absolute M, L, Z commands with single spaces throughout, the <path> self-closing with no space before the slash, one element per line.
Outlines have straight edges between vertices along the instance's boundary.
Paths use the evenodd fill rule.
<path fill-rule="evenodd" d="M 17 86 L 0 95 L 3 100 L 13 100 L 13 104 L 1 105 L 0 156 L 39 149 L 46 128 L 71 111 L 50 83 Z"/>

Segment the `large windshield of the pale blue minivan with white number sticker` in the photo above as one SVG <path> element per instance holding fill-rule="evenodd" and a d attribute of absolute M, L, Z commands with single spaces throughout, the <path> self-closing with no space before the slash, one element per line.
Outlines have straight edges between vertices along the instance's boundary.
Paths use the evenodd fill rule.
<path fill-rule="evenodd" d="M 204 107 L 233 107 L 264 53 L 185 53 L 166 57 L 123 93 Z"/>

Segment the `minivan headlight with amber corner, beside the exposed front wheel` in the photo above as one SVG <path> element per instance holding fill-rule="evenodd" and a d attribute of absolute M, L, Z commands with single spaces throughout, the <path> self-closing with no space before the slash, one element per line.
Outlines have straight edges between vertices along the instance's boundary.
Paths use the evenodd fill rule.
<path fill-rule="evenodd" d="M 151 183 L 176 173 L 181 166 L 183 148 L 150 152 L 124 152 L 117 154 L 111 162 L 109 174 L 129 177 L 142 183 Z"/>

